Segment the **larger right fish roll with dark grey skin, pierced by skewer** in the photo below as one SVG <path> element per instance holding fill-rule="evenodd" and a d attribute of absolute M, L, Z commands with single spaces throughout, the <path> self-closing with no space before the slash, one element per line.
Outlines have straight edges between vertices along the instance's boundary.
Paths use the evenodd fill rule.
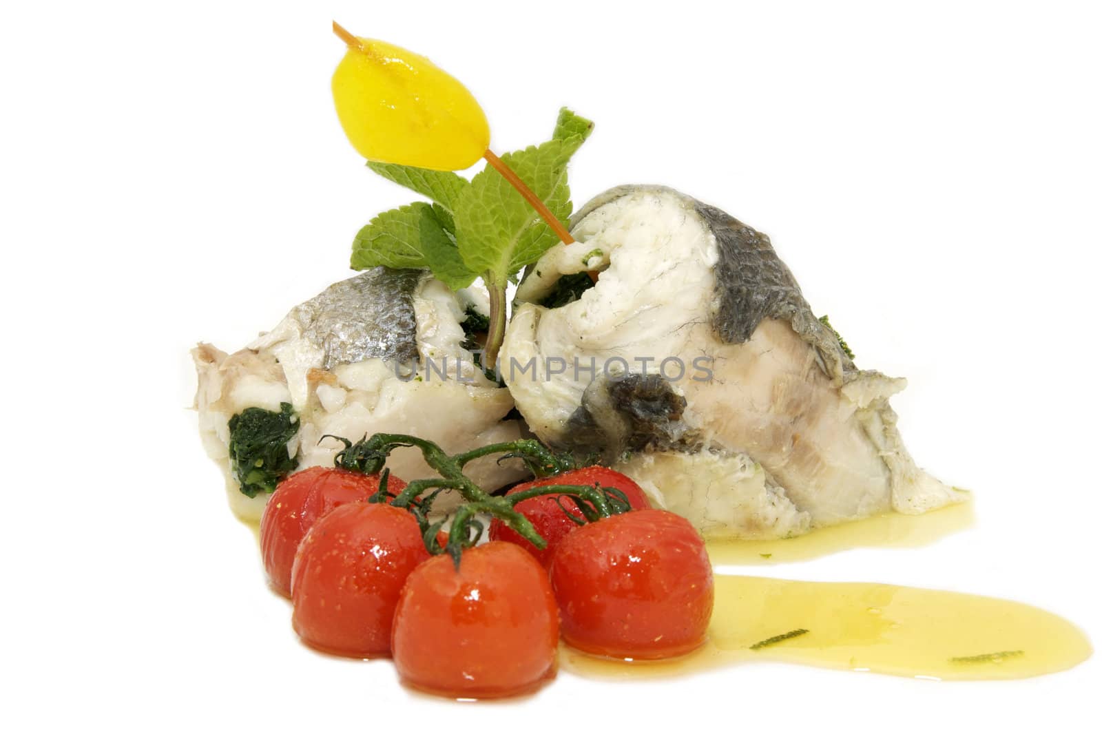
<path fill-rule="evenodd" d="M 521 283 L 499 362 L 538 437 L 603 452 L 710 535 L 965 497 L 904 448 L 888 397 L 906 381 L 853 364 L 767 236 L 659 186 L 597 196 L 572 230 Z M 534 304 L 594 269 L 576 300 Z"/>

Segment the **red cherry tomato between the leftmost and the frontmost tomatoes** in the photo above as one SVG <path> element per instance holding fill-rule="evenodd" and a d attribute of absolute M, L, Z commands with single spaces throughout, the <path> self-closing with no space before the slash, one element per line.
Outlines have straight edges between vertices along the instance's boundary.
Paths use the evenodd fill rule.
<path fill-rule="evenodd" d="M 295 633 L 343 656 L 389 654 L 398 595 L 429 557 L 409 512 L 369 503 L 334 508 L 299 545 L 291 577 Z"/>

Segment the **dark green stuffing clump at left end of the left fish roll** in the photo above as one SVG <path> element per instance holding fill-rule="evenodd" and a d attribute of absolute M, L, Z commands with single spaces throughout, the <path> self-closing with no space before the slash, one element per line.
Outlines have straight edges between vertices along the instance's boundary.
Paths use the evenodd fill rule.
<path fill-rule="evenodd" d="M 241 493 L 250 498 L 276 485 L 299 466 L 287 443 L 299 431 L 299 417 L 283 402 L 278 412 L 249 407 L 229 418 L 229 461 Z"/>

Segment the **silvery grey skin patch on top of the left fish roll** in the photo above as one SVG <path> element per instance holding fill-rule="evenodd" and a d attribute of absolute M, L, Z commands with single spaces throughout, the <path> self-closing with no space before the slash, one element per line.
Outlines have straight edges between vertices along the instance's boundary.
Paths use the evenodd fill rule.
<path fill-rule="evenodd" d="M 323 352 L 326 370 L 368 358 L 414 364 L 413 292 L 424 276 L 423 270 L 375 267 L 331 284 L 288 317 Z"/>

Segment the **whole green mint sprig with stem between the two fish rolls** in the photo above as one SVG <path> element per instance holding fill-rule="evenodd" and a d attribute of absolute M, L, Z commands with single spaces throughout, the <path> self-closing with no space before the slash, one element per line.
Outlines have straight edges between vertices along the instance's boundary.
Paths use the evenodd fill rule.
<path fill-rule="evenodd" d="M 501 160 L 559 220 L 573 211 L 566 164 L 593 131 L 593 122 L 565 107 L 551 140 L 501 155 Z M 472 180 L 441 172 L 369 162 L 383 177 L 430 198 L 379 214 L 353 241 L 353 269 L 386 266 L 428 268 L 453 290 L 482 277 L 491 303 L 490 333 L 505 332 L 505 288 L 509 278 L 534 262 L 559 237 L 528 202 L 495 170 Z M 497 325 L 497 327 L 495 327 Z M 486 363 L 493 366 L 500 342 L 490 338 Z"/>

